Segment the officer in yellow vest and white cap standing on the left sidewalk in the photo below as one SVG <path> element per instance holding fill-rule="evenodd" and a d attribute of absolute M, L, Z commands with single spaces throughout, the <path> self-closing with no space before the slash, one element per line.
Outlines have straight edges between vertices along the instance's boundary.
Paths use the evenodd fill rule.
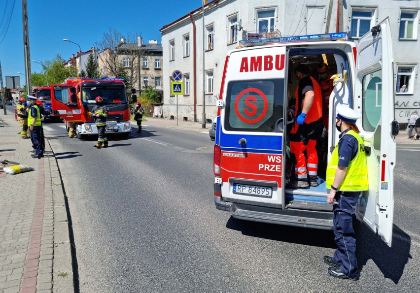
<path fill-rule="evenodd" d="M 31 103 L 28 111 L 28 127 L 31 131 L 31 141 L 35 154 L 32 158 L 41 159 L 44 156 L 44 150 L 41 144 L 41 113 L 36 105 L 37 98 L 28 96 L 28 101 Z"/>

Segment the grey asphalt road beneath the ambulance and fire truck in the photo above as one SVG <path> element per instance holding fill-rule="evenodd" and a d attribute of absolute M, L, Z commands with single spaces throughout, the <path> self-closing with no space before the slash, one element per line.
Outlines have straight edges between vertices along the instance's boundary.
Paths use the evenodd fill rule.
<path fill-rule="evenodd" d="M 80 292 L 420 292 L 420 143 L 399 146 L 392 248 L 360 226 L 359 281 L 328 275 L 331 231 L 235 220 L 213 203 L 209 136 L 70 139 L 45 124 L 69 199 Z"/>

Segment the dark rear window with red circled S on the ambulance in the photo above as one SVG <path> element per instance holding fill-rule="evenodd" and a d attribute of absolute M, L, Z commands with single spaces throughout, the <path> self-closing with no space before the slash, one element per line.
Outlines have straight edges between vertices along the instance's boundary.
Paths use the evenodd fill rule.
<path fill-rule="evenodd" d="M 284 79 L 231 81 L 228 84 L 224 129 L 275 132 L 283 118 Z"/>

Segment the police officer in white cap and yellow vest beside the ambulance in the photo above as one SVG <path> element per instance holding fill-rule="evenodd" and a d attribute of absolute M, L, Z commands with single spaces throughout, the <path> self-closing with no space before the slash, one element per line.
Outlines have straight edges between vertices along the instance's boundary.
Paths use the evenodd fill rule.
<path fill-rule="evenodd" d="M 332 258 L 324 256 L 324 262 L 330 265 L 328 273 L 333 277 L 353 281 L 359 279 L 359 272 L 352 219 L 360 193 L 368 190 L 366 153 L 355 124 L 360 117 L 348 106 L 337 107 L 336 128 L 341 134 L 326 173 L 326 186 L 330 189 L 327 203 L 334 204 L 337 249 Z"/>

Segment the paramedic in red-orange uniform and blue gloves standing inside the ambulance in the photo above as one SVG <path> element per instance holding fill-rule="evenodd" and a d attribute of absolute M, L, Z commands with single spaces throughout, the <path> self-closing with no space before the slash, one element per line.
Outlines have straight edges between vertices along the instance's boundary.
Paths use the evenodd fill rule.
<path fill-rule="evenodd" d="M 318 186 L 318 155 L 315 146 L 321 127 L 322 95 L 321 88 L 310 73 L 311 69 L 304 64 L 295 69 L 299 84 L 295 92 L 295 123 L 290 132 L 290 152 L 296 157 L 297 180 L 289 182 L 289 188 Z"/>

